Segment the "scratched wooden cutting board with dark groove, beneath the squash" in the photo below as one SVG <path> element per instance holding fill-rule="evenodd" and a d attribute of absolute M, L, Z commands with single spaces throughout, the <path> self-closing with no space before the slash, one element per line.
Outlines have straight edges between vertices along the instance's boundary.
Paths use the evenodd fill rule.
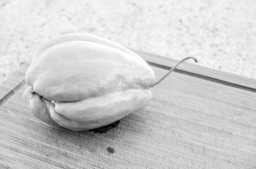
<path fill-rule="evenodd" d="M 175 62 L 138 52 L 159 78 Z M 110 126 L 49 126 L 22 99 L 22 65 L 0 87 L 0 168 L 256 168 L 256 80 L 192 64 Z"/>

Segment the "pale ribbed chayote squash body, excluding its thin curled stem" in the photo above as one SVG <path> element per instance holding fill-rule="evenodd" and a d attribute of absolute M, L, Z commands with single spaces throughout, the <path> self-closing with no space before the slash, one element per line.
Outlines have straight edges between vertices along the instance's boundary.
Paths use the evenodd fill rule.
<path fill-rule="evenodd" d="M 64 34 L 40 47 L 25 77 L 33 114 L 74 131 L 99 128 L 145 107 L 156 78 L 131 50 L 92 34 Z"/>

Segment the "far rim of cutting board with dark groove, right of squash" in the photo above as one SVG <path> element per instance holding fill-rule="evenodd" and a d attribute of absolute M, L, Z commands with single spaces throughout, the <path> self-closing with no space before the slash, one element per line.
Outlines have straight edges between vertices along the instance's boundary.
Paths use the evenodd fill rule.
<path fill-rule="evenodd" d="M 140 55 L 143 59 L 145 59 L 148 64 L 150 64 L 151 66 L 156 66 L 158 68 L 169 70 L 178 62 L 163 56 L 149 54 L 147 52 L 141 52 L 140 50 L 131 50 L 134 51 L 136 54 Z M 234 75 L 232 73 L 213 70 L 210 68 L 205 68 L 196 64 L 189 64 L 186 62 L 180 64 L 180 66 L 175 71 L 193 77 L 204 78 L 205 80 L 211 80 L 220 84 L 230 85 L 232 87 L 256 92 L 256 79 L 253 78 L 242 77 L 239 75 Z"/>

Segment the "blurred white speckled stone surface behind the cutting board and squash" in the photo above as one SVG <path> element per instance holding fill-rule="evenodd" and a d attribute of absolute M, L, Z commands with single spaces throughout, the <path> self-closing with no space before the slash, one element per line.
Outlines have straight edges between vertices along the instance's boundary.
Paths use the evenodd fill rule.
<path fill-rule="evenodd" d="M 72 3 L 71 3 L 72 2 Z M 256 1 L 0 1 L 0 83 L 35 48 L 85 32 L 172 59 L 256 78 Z"/>

